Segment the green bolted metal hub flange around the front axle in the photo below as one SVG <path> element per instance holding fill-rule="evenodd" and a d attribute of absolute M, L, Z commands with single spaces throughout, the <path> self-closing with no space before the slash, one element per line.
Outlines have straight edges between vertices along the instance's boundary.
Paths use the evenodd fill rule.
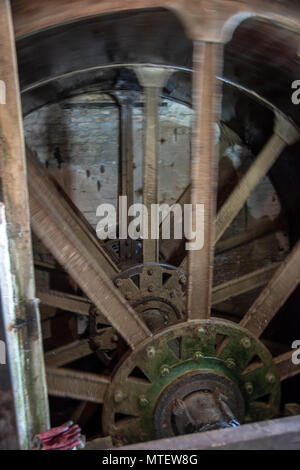
<path fill-rule="evenodd" d="M 197 371 L 238 386 L 246 422 L 278 413 L 280 380 L 269 351 L 247 330 L 214 318 L 170 326 L 125 358 L 105 397 L 104 432 L 116 444 L 157 438 L 153 416 L 160 397 L 175 380 Z"/>

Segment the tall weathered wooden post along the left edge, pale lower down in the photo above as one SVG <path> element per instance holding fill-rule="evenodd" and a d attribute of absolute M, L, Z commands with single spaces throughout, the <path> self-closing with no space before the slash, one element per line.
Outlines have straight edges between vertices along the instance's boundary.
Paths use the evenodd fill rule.
<path fill-rule="evenodd" d="M 14 391 L 20 447 L 28 449 L 33 436 L 49 425 L 48 397 L 42 357 L 39 312 L 35 301 L 34 269 L 29 223 L 25 148 L 10 2 L 0 2 L 0 79 L 6 85 L 6 104 L 0 104 L 0 162 L 3 242 L 3 316 Z M 7 224 L 5 223 L 7 218 Z M 6 232 L 6 234 L 5 234 Z M 4 286 L 6 282 L 6 286 Z M 7 291 L 7 289 L 10 289 Z M 9 302 L 11 299 L 11 303 Z M 22 325 L 15 328 L 15 325 Z"/>

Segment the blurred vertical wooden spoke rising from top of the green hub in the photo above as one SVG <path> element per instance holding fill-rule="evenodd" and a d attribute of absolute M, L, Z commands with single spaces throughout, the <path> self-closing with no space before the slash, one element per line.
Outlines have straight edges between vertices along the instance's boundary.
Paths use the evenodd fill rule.
<path fill-rule="evenodd" d="M 204 204 L 204 247 L 189 252 L 188 299 L 189 319 L 208 318 L 212 289 L 212 260 L 216 198 L 217 146 L 214 125 L 219 119 L 221 93 L 216 75 L 222 60 L 222 46 L 194 43 L 194 107 L 196 114 L 191 164 L 191 202 Z"/>

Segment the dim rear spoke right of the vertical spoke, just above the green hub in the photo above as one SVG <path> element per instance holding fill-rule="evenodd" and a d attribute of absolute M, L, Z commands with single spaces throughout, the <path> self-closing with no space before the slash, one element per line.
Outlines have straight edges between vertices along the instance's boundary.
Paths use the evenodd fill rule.
<path fill-rule="evenodd" d="M 257 287 L 266 285 L 278 269 L 278 266 L 279 263 L 273 263 L 270 266 L 257 269 L 245 276 L 215 286 L 212 291 L 212 305 L 216 305 L 232 297 L 237 297 Z"/>

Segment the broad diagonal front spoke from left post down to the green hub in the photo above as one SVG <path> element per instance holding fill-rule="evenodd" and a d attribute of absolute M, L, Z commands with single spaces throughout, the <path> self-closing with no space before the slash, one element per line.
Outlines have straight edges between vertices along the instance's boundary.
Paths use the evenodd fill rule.
<path fill-rule="evenodd" d="M 72 221 L 63 220 L 60 211 L 57 211 L 56 217 L 53 214 L 50 216 L 49 202 L 51 204 L 51 194 L 42 200 L 31 188 L 31 223 L 34 231 L 129 346 L 135 347 L 151 333 L 76 236 Z"/>

